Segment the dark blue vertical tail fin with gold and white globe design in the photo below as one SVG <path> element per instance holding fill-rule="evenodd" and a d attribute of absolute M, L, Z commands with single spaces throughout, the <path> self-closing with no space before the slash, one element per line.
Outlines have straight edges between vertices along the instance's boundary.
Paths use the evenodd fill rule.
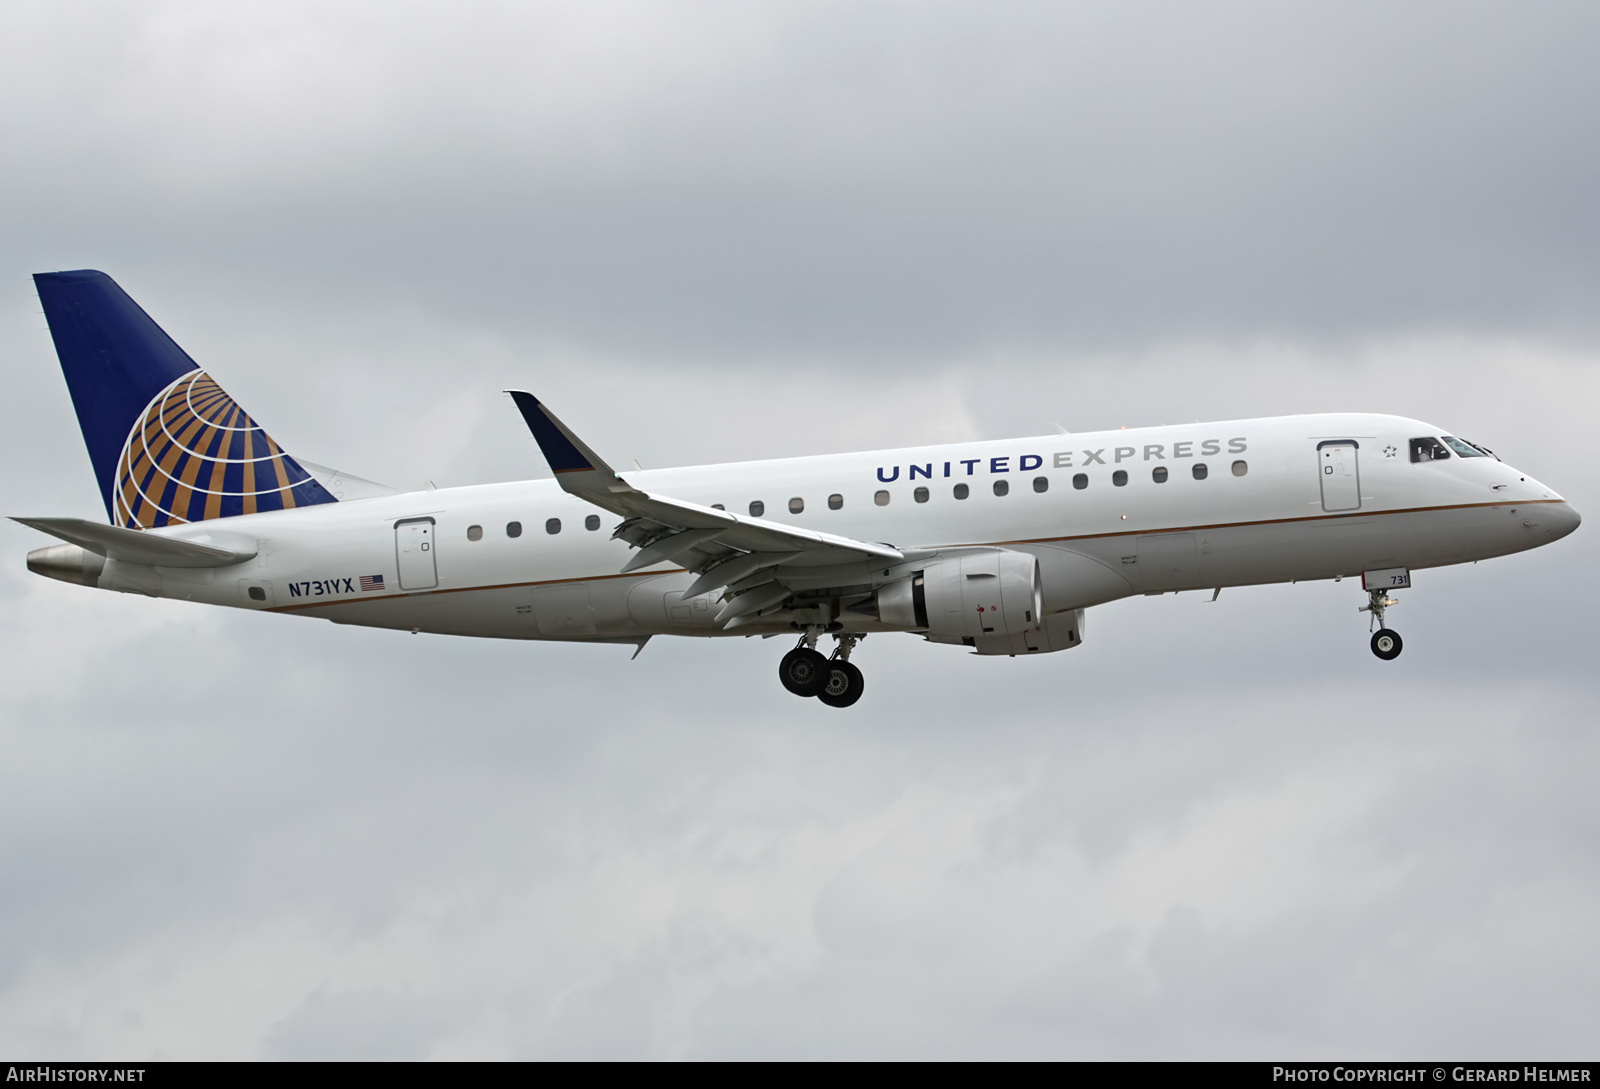
<path fill-rule="evenodd" d="M 112 523 L 334 502 L 115 280 L 85 269 L 34 283 Z"/>

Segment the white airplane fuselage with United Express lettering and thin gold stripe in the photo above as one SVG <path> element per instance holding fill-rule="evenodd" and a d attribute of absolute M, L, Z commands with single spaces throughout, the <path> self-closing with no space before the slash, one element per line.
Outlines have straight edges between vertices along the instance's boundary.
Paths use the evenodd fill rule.
<path fill-rule="evenodd" d="M 1501 461 L 1411 461 L 1410 440 L 1440 435 L 1395 416 L 1286 416 L 662 469 L 627 480 L 739 515 L 760 502 L 768 521 L 901 550 L 1029 552 L 1040 561 L 1046 614 L 1134 593 L 1464 563 L 1576 528 L 1578 513 L 1558 494 Z M 1334 453 L 1325 453 L 1330 443 Z M 1165 481 L 1155 480 L 1160 469 Z M 1114 483 L 1117 473 L 1126 483 Z M 797 513 L 792 501 L 800 501 Z M 518 536 L 509 536 L 510 523 L 520 523 Z M 454 635 L 627 643 L 722 635 L 714 595 L 682 600 L 688 572 L 662 563 L 619 574 L 630 548 L 610 537 L 616 523 L 554 480 L 419 491 L 150 531 L 248 542 L 258 555 L 210 569 L 107 563 L 99 585 Z M 406 525 L 429 528 L 430 566 L 419 576 L 422 556 L 410 553 L 402 585 L 397 537 Z"/>

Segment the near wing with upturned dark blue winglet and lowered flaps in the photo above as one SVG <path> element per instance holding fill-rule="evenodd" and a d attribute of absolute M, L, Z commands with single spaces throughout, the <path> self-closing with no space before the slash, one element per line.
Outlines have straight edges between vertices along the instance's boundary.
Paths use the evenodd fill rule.
<path fill-rule="evenodd" d="M 603 510 L 622 517 L 613 537 L 627 541 L 638 552 L 622 571 L 637 571 L 658 563 L 677 563 L 701 577 L 685 592 L 694 596 L 717 587 L 738 592 L 755 590 L 778 582 L 786 587 L 795 577 L 805 577 L 808 585 L 827 582 L 829 569 L 837 568 L 842 579 L 856 577 L 851 568 L 864 564 L 901 563 L 906 553 L 886 544 L 840 537 L 830 533 L 786 526 L 765 518 L 746 518 L 717 507 L 654 496 L 629 485 L 595 454 L 581 438 L 562 424 L 531 393 L 507 390 L 517 401 L 528 430 L 555 472 L 557 483 L 568 493 L 586 499 Z M 760 596 L 771 596 L 773 587 Z M 787 595 L 752 606 L 742 595 L 723 609 L 726 620 L 781 603 Z M 739 606 L 742 612 L 728 614 Z"/>

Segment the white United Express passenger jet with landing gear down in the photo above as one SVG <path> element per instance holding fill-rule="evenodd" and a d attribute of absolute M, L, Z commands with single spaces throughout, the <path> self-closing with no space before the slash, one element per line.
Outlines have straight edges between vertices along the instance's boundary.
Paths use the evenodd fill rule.
<path fill-rule="evenodd" d="M 779 681 L 830 707 L 861 699 L 867 635 L 1050 654 L 1118 598 L 1314 579 L 1362 579 L 1392 660 L 1414 571 L 1581 521 L 1486 446 L 1373 413 L 624 475 L 523 390 L 552 480 L 402 493 L 293 457 L 106 273 L 34 281 L 109 515 L 16 518 L 64 542 L 27 555 L 35 574 L 634 657 L 658 635 L 789 636 Z"/>

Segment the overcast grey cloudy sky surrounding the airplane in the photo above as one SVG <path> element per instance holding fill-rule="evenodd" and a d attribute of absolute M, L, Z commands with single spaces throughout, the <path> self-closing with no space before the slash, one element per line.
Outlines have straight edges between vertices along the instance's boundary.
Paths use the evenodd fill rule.
<path fill-rule="evenodd" d="M 11 3 L 6 513 L 99 515 L 27 273 L 293 453 L 646 465 L 1384 409 L 1590 517 L 1592 3 Z M 494 644 L 0 547 L 0 1052 L 1594 1057 L 1600 548 L 1088 641 Z"/>

